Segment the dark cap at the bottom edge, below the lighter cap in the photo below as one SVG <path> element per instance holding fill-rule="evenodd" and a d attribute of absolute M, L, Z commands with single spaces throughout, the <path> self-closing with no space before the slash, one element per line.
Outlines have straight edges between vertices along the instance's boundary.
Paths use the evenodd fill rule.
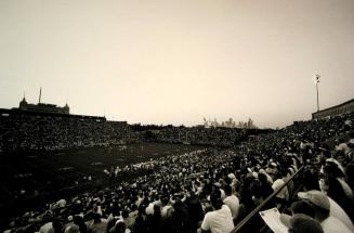
<path fill-rule="evenodd" d="M 296 213 L 293 216 L 281 213 L 280 222 L 294 233 L 324 233 L 319 222 L 303 213 Z"/>

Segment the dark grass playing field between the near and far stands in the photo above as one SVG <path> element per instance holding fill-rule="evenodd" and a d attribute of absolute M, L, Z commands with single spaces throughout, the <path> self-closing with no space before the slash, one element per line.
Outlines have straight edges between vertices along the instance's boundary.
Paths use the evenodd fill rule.
<path fill-rule="evenodd" d="M 182 144 L 132 144 L 127 148 L 78 148 L 60 152 L 31 153 L 26 155 L 1 155 L 0 164 L 0 207 L 9 202 L 35 196 L 35 193 L 55 193 L 88 183 L 107 179 L 105 168 L 126 166 L 150 158 L 182 154 L 202 148 Z M 25 191 L 21 194 L 21 191 Z"/>

